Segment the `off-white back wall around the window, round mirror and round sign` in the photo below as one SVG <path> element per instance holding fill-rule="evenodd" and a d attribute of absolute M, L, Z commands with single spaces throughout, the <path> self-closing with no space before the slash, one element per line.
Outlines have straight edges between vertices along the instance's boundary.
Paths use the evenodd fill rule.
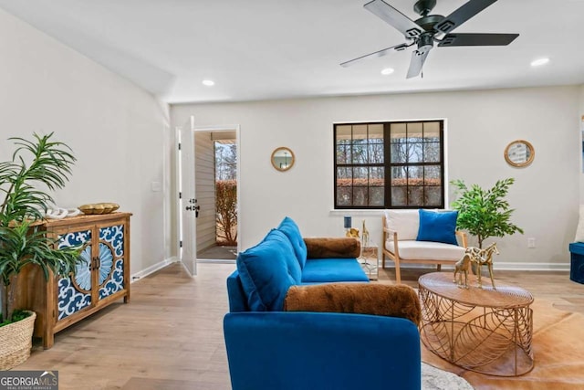
<path fill-rule="evenodd" d="M 342 121 L 446 119 L 448 180 L 491 186 L 515 177 L 508 200 L 525 235 L 497 238 L 499 267 L 558 269 L 568 264 L 579 205 L 579 87 L 479 90 L 171 107 L 172 123 L 194 115 L 197 126 L 241 125 L 241 246 L 260 240 L 284 216 L 304 236 L 340 236 L 342 216 L 366 217 L 380 241 L 381 213 L 333 210 L 332 124 Z M 508 142 L 536 150 L 527 168 L 506 164 Z M 278 146 L 297 157 L 287 173 L 269 162 Z M 451 194 L 452 195 L 452 194 Z M 527 248 L 535 237 L 537 248 Z M 495 264 L 495 266 L 497 265 Z"/>

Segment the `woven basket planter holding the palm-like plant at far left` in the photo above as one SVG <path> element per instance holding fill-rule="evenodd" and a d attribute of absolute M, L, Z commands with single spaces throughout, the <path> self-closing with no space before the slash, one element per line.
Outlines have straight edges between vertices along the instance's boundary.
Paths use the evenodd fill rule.
<path fill-rule="evenodd" d="M 33 346 L 36 312 L 26 319 L 0 327 L 0 370 L 9 370 L 23 364 Z"/>

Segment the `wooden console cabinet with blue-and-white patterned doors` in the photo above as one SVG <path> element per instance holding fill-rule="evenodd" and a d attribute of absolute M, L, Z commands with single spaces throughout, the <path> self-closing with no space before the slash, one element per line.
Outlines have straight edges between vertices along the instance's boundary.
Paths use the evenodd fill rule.
<path fill-rule="evenodd" d="M 53 346 L 56 332 L 116 300 L 130 300 L 130 216 L 72 216 L 43 225 L 49 237 L 58 237 L 59 248 L 83 248 L 74 277 L 47 281 L 38 267 L 22 273 L 16 307 L 36 311 L 34 335 L 45 348 Z"/>

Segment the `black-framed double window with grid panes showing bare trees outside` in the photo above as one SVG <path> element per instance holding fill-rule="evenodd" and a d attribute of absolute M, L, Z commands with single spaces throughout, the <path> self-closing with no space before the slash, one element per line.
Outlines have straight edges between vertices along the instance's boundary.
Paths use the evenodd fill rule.
<path fill-rule="evenodd" d="M 334 137 L 335 208 L 443 208 L 443 121 L 335 124 Z"/>

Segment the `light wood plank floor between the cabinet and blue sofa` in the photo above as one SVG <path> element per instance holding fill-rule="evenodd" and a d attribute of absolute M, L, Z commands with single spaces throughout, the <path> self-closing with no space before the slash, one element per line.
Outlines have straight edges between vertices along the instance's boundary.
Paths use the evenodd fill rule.
<path fill-rule="evenodd" d="M 226 277 L 235 264 L 200 264 L 191 279 L 179 264 L 131 285 L 129 304 L 116 303 L 56 335 L 53 348 L 36 346 L 16 370 L 58 370 L 61 390 L 229 389 L 223 316 Z M 403 269 L 404 283 L 431 269 Z M 391 283 L 393 269 L 381 270 Z M 584 312 L 584 285 L 568 272 L 495 271 L 561 310 Z"/>

